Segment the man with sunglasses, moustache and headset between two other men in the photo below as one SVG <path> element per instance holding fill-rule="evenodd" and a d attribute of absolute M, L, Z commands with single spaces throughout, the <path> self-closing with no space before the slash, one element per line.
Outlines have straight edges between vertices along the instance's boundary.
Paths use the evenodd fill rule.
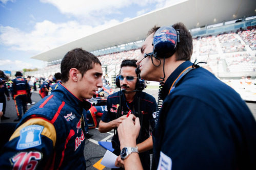
<path fill-rule="evenodd" d="M 142 128 L 139 137 L 136 138 L 136 149 L 139 152 L 143 168 L 150 169 L 149 150 L 152 149 L 152 137 L 149 137 L 149 126 L 154 128 L 152 113 L 156 111 L 156 102 L 152 95 L 142 91 L 145 88 L 145 82 L 139 80 L 135 68 L 136 60 L 122 61 L 120 74 L 116 77 L 116 86 L 122 90 L 108 96 L 99 131 L 104 133 L 114 129 L 113 153 L 119 156 L 120 143 L 116 128 L 128 115 L 139 117 Z M 123 164 L 119 162 L 116 166 L 122 168 Z"/>

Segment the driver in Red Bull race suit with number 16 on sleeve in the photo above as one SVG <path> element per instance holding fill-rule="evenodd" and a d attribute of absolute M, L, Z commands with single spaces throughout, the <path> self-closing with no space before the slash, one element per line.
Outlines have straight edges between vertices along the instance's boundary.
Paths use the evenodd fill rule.
<path fill-rule="evenodd" d="M 61 62 L 62 83 L 23 116 L 0 156 L 0 169 L 86 169 L 84 117 L 102 67 L 93 54 L 75 48 Z"/>

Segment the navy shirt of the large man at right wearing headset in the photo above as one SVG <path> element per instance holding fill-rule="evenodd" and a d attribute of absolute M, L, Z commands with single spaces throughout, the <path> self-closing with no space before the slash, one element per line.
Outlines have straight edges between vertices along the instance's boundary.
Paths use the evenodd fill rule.
<path fill-rule="evenodd" d="M 256 123 L 240 95 L 186 61 L 166 80 L 159 126 L 153 132 L 156 165 L 171 169 L 256 169 Z"/>

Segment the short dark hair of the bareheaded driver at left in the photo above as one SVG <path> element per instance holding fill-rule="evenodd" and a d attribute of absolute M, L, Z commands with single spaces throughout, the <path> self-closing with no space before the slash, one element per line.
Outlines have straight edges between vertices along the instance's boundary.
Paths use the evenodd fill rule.
<path fill-rule="evenodd" d="M 65 83 L 69 80 L 69 70 L 71 68 L 78 69 L 83 77 L 87 70 L 94 67 L 95 63 L 102 65 L 96 56 L 82 48 L 69 51 L 61 62 L 62 82 Z"/>

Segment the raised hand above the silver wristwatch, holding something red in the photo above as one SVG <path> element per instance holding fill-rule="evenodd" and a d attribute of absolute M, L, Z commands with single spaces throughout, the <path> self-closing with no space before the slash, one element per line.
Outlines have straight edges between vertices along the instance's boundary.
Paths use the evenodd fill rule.
<path fill-rule="evenodd" d="M 139 117 L 130 114 L 127 119 L 123 120 L 122 124 L 117 128 L 121 150 L 124 147 L 136 147 L 136 138 L 139 136 L 140 129 Z"/>

